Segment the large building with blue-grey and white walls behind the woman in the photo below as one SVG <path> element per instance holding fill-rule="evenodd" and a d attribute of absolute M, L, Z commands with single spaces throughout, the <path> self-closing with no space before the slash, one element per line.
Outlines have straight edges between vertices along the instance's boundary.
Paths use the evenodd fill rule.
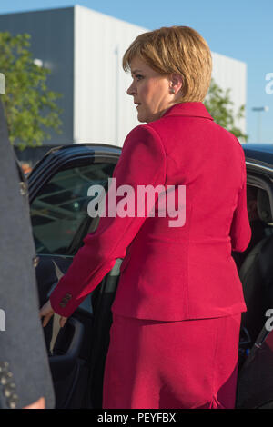
<path fill-rule="evenodd" d="M 139 122 L 133 98 L 126 94 L 131 76 L 122 69 L 122 57 L 147 28 L 76 5 L 0 15 L 0 31 L 32 36 L 34 57 L 51 71 L 48 88 L 63 95 L 58 100 L 64 110 L 63 134 L 51 131 L 45 144 L 123 145 Z M 215 53 L 212 58 L 212 75 L 223 89 L 231 88 L 237 112 L 247 102 L 247 65 Z M 246 119 L 238 126 L 246 132 Z"/>

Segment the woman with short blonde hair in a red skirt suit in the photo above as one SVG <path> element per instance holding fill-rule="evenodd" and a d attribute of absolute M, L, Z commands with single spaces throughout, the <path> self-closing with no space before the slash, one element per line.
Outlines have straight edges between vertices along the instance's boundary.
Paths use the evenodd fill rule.
<path fill-rule="evenodd" d="M 246 306 L 231 250 L 244 251 L 251 235 L 244 152 L 202 104 L 211 55 L 196 31 L 174 26 L 139 35 L 123 65 L 133 77 L 127 94 L 147 124 L 126 137 L 116 188 L 130 185 L 128 202 L 143 208 L 137 189 L 163 185 L 178 210 L 176 204 L 163 215 L 162 193 L 155 192 L 154 215 L 147 208 L 142 216 L 101 218 L 52 293 L 53 308 L 46 303 L 41 316 L 46 324 L 54 310 L 64 324 L 125 257 L 112 306 L 104 408 L 233 408 Z M 174 212 L 179 221 L 170 223 Z"/>

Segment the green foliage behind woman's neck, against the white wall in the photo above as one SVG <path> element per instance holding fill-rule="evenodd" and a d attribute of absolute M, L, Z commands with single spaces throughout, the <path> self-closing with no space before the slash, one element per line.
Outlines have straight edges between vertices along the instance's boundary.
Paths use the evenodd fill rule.
<path fill-rule="evenodd" d="M 241 141 L 248 141 L 248 135 L 235 125 L 235 121 L 245 115 L 245 105 L 241 105 L 238 112 L 234 112 L 233 102 L 230 99 L 230 89 L 223 91 L 216 82 L 211 79 L 207 97 L 204 103 L 207 111 L 212 115 L 215 122 L 234 134 Z"/>

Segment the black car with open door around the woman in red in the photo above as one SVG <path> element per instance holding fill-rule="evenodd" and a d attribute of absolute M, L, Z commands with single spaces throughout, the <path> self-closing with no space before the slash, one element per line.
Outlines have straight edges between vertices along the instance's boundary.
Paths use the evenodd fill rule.
<path fill-rule="evenodd" d="M 273 408 L 273 144 L 242 145 L 253 221 L 247 251 L 232 253 L 248 306 L 242 316 L 239 343 L 237 406 Z M 96 230 L 98 217 L 87 214 L 87 191 L 93 184 L 107 190 L 120 153 L 121 148 L 106 144 L 57 147 L 45 154 L 28 176 L 41 306 L 66 273 L 86 233 Z M 121 262 L 116 261 L 64 328 L 59 328 L 57 315 L 45 327 L 56 408 L 102 406 L 110 309 Z"/>

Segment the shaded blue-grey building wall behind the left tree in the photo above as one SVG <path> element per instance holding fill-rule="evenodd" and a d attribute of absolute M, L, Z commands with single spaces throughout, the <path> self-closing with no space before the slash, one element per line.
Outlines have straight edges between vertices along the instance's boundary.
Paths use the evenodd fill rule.
<path fill-rule="evenodd" d="M 12 35 L 31 35 L 33 58 L 42 62 L 50 74 L 46 80 L 48 90 L 62 94 L 57 100 L 63 110 L 62 134 L 47 129 L 51 139 L 44 144 L 73 144 L 73 87 L 74 87 L 74 9 L 48 9 L 33 12 L 0 15 L 0 31 Z M 1 70 L 0 70 L 1 71 Z M 6 88 L 8 89 L 8 88 Z"/>

